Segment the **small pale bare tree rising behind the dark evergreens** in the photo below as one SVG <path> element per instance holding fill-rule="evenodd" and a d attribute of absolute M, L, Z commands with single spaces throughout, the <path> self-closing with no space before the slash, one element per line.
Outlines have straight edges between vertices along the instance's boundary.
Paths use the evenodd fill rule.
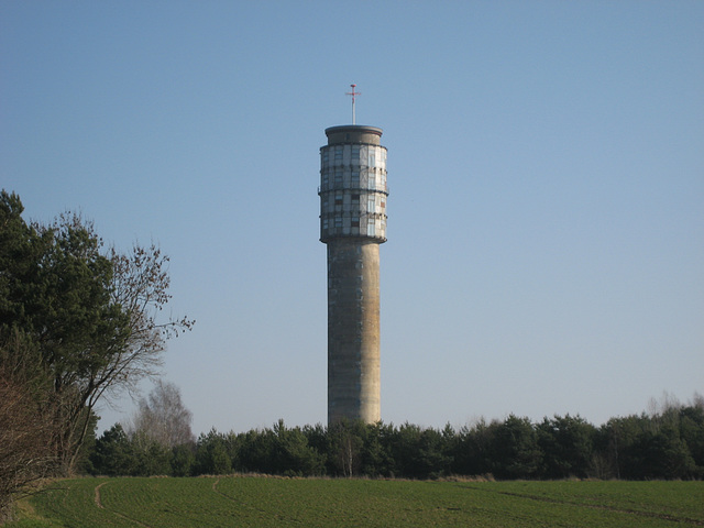
<path fill-rule="evenodd" d="M 191 420 L 193 414 L 184 405 L 178 387 L 160 380 L 148 397 L 140 400 L 140 408 L 128 429 L 132 436 L 141 433 L 173 448 L 195 441 Z"/>

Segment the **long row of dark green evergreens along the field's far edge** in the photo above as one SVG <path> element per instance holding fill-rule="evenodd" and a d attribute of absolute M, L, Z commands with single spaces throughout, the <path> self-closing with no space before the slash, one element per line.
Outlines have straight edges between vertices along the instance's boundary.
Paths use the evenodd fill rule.
<path fill-rule="evenodd" d="M 116 424 L 97 439 L 94 475 L 195 476 L 233 472 L 286 476 L 439 479 L 702 479 L 704 398 L 595 427 L 579 416 L 539 422 L 514 415 L 459 430 L 340 421 L 202 433 L 168 446 Z"/>

